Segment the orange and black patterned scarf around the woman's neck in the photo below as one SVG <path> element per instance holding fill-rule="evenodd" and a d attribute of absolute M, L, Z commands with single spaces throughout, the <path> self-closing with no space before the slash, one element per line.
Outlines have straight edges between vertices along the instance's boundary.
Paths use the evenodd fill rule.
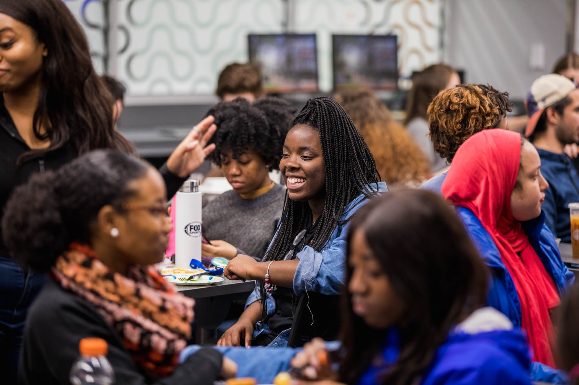
<path fill-rule="evenodd" d="M 90 302 L 152 378 L 173 372 L 191 335 L 192 299 L 175 293 L 152 266 L 112 272 L 89 247 L 72 243 L 57 258 L 54 279 Z"/>

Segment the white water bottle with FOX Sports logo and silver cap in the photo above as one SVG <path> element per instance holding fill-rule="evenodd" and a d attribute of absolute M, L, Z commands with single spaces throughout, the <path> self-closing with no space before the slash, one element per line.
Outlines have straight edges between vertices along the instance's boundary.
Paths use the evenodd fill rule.
<path fill-rule="evenodd" d="M 188 179 L 175 197 L 175 265 L 189 268 L 201 261 L 201 192 L 199 180 Z"/>

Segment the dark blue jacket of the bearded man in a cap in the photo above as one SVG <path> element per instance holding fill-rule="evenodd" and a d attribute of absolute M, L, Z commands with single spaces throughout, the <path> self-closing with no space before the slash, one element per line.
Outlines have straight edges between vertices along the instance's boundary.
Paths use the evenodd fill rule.
<path fill-rule="evenodd" d="M 547 179 L 545 190 L 545 224 L 563 242 L 571 242 L 569 203 L 579 202 L 579 175 L 567 154 L 537 149 L 541 157 L 541 173 Z"/>

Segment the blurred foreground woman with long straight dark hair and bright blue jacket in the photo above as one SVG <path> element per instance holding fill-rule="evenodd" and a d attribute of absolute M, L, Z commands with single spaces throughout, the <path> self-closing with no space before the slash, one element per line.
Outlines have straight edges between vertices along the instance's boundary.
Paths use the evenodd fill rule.
<path fill-rule="evenodd" d="M 343 360 L 332 371 L 318 359 L 323 342 L 313 341 L 292 360 L 295 368 L 309 365 L 303 377 L 359 385 L 529 383 L 525 338 L 503 314 L 480 309 L 488 269 L 434 193 L 393 191 L 361 208 L 347 262 Z"/>

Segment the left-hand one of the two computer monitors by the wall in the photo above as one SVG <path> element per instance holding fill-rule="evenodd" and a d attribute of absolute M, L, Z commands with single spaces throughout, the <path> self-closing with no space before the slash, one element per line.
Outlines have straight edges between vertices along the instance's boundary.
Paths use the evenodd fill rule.
<path fill-rule="evenodd" d="M 250 62 L 261 68 L 268 93 L 317 92 L 316 35 L 248 35 Z"/>

